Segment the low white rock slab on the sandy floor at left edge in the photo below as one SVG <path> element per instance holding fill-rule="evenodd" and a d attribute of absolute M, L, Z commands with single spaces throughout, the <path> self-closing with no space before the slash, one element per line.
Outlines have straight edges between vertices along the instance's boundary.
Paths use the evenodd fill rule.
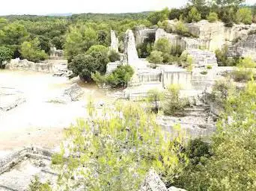
<path fill-rule="evenodd" d="M 0 111 L 7 111 L 25 102 L 25 97 L 19 90 L 0 87 Z"/>

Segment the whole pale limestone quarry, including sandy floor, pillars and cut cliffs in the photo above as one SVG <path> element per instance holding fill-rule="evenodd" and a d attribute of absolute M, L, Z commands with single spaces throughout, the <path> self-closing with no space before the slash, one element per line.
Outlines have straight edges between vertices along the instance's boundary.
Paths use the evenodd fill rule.
<path fill-rule="evenodd" d="M 174 25 L 175 21 L 168 21 Z M 26 190 L 33 175 L 43 181 L 53 180 L 58 173 L 51 169 L 50 157 L 59 151 L 64 139 L 63 131 L 78 118 L 88 116 L 88 96 L 96 102 L 112 105 L 116 99 L 140 101 L 148 90 L 165 90 L 170 84 L 179 84 L 180 95 L 195 102 L 184 116 L 157 116 L 157 123 L 165 131 L 173 132 L 180 124 L 188 137 L 208 137 L 216 131 L 218 116 L 214 106 L 207 104 L 207 93 L 223 73 L 234 67 L 218 66 L 217 48 L 228 46 L 230 57 L 252 57 L 256 60 L 256 25 L 234 25 L 226 28 L 222 22 L 205 20 L 186 24 L 194 37 L 181 37 L 161 28 L 127 30 L 121 60 L 108 63 L 106 73 L 118 66 L 132 66 L 135 74 L 125 90 L 101 90 L 96 85 L 84 84 L 78 78 L 69 79 L 64 52 L 51 49 L 51 57 L 42 63 L 19 58 L 5 63 L 0 71 L 0 190 Z M 118 37 L 110 31 L 111 49 L 118 52 Z M 193 69 L 150 63 L 138 57 L 136 46 L 149 37 L 167 38 L 171 45 L 181 46 L 192 57 Z M 236 43 L 234 40 L 240 38 Z M 202 48 L 204 47 L 204 48 Z M 206 72 L 207 71 L 207 72 Z M 102 105 L 103 105 L 102 104 Z M 38 147 L 38 148 L 37 148 Z M 156 172 L 150 171 L 141 191 L 180 190 L 167 189 Z M 182 190 L 180 190 L 182 191 Z"/>

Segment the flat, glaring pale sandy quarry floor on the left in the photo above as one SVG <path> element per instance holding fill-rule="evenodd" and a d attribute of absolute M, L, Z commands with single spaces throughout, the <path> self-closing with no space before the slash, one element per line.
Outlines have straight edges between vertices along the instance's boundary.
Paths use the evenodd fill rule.
<path fill-rule="evenodd" d="M 82 85 L 85 95 L 67 104 L 47 103 L 61 95 L 74 82 Z M 86 116 L 88 95 L 97 100 L 105 95 L 96 87 L 77 79 L 53 77 L 37 72 L 0 70 L 0 87 L 13 87 L 24 93 L 26 101 L 13 110 L 0 113 L 0 154 L 24 146 L 55 148 L 63 140 L 63 130 Z M 1 100 L 0 100 L 1 101 Z"/>

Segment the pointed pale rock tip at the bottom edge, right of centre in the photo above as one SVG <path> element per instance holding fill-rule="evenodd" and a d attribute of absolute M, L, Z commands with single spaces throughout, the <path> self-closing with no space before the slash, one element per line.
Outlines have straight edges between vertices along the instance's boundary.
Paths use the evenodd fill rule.
<path fill-rule="evenodd" d="M 141 186 L 140 191 L 168 191 L 168 190 L 186 191 L 176 187 L 170 187 L 169 189 L 167 189 L 165 187 L 165 184 L 161 181 L 161 178 L 159 178 L 159 175 L 157 175 L 157 173 L 153 169 L 150 169 L 150 171 L 147 173 L 144 184 Z"/>

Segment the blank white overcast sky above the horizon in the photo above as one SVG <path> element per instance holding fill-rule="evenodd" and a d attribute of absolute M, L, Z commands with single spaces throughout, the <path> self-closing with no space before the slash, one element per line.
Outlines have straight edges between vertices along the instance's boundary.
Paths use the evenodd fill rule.
<path fill-rule="evenodd" d="M 127 13 L 181 7 L 187 0 L 4 0 L 0 15 L 49 13 Z M 254 4 L 256 0 L 246 0 Z"/>

